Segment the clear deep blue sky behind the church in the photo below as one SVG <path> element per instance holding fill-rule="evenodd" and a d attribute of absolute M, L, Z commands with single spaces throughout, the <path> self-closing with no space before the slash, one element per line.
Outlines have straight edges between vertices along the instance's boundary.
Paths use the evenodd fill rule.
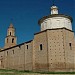
<path fill-rule="evenodd" d="M 75 18 L 74 0 L 55 0 L 60 14 Z M 50 14 L 52 0 L 0 0 L 0 47 L 4 46 L 7 28 L 12 23 L 16 28 L 18 44 L 32 40 L 34 33 L 40 31 L 38 20 Z M 75 31 L 75 20 L 73 31 Z"/>

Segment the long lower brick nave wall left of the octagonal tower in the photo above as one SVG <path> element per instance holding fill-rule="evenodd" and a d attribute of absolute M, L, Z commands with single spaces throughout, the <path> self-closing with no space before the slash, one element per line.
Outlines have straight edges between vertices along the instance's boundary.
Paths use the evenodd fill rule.
<path fill-rule="evenodd" d="M 32 70 L 32 48 L 33 43 L 31 41 L 3 50 L 0 52 L 0 62 L 2 61 L 0 67 L 5 69 Z"/>

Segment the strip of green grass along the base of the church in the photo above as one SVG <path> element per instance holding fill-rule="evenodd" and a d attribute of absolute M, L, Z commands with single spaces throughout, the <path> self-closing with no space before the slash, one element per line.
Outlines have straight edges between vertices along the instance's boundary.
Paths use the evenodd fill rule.
<path fill-rule="evenodd" d="M 0 75 L 75 75 L 75 72 L 32 72 L 17 70 L 0 70 Z"/>

